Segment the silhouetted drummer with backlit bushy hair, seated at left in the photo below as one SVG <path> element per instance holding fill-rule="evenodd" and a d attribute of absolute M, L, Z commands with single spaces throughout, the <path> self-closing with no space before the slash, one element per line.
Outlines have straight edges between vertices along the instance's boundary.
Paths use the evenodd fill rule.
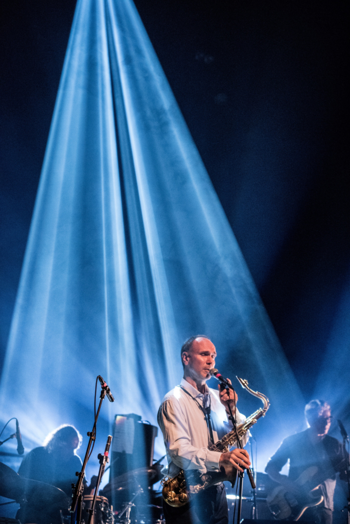
<path fill-rule="evenodd" d="M 52 484 L 71 496 L 72 483 L 76 482 L 75 472 L 80 471 L 82 466 L 80 456 L 76 454 L 82 440 L 81 434 L 73 425 L 61 425 L 47 435 L 42 446 L 35 447 L 28 453 L 18 474 Z"/>

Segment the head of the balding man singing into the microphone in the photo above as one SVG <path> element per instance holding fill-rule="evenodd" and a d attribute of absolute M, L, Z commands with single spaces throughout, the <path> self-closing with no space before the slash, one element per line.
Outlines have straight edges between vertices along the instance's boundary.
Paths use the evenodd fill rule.
<path fill-rule="evenodd" d="M 195 339 L 190 351 L 182 354 L 185 373 L 195 381 L 209 380 L 209 370 L 215 366 L 215 357 L 215 346 L 210 340 Z"/>

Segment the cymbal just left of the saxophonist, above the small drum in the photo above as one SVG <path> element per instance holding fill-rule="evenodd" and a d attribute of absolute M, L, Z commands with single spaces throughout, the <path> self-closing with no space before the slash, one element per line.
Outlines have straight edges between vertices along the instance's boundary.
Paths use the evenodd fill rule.
<path fill-rule="evenodd" d="M 137 470 L 128 471 L 123 475 L 113 478 L 112 481 L 105 485 L 102 494 L 104 496 L 112 495 L 116 492 L 122 492 L 125 489 L 131 490 L 137 486 L 151 486 L 160 481 L 163 475 L 160 473 L 162 466 L 139 467 Z"/>

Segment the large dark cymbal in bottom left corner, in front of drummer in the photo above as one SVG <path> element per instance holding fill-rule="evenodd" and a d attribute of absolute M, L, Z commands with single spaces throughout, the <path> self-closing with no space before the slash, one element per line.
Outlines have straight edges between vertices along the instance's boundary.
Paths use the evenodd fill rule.
<path fill-rule="evenodd" d="M 10 467 L 0 462 L 0 495 L 17 501 L 25 501 L 36 507 L 47 504 L 63 504 L 69 498 L 61 489 L 23 478 Z"/>

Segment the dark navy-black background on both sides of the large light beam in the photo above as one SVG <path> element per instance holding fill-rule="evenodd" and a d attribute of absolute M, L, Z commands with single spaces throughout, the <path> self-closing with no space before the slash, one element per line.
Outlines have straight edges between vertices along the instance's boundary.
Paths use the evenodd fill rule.
<path fill-rule="evenodd" d="M 348 286 L 345 2 L 136 0 L 305 400 Z M 1 361 L 74 0 L 1 9 Z"/>

